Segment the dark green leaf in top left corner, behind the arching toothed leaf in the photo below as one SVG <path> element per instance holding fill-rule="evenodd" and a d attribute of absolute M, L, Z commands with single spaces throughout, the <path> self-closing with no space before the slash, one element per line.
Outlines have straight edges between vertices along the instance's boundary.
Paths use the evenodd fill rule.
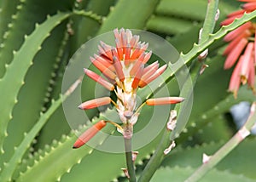
<path fill-rule="evenodd" d="M 13 0 L 8 2 L 11 3 Z M 0 77 L 3 77 L 6 70 L 5 65 L 13 60 L 13 52 L 20 49 L 24 43 L 24 36 L 32 33 L 35 24 L 46 20 L 47 14 L 56 14 L 57 10 L 67 10 L 71 7 L 69 6 L 70 3 L 72 1 L 69 0 L 63 0 L 61 4 L 51 0 L 38 1 L 37 3 L 33 0 L 20 0 L 20 3 L 15 7 L 17 9 L 15 14 L 12 14 L 13 20 L 3 36 L 0 49 Z"/>

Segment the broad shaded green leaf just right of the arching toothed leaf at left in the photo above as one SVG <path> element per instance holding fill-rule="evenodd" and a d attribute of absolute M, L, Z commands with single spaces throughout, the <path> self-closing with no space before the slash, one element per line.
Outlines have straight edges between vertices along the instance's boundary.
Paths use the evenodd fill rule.
<path fill-rule="evenodd" d="M 24 80 L 26 84 L 20 88 L 17 96 L 19 102 L 12 111 L 13 118 L 10 120 L 7 128 L 9 135 L 3 143 L 5 153 L 1 157 L 0 163 L 2 161 L 9 161 L 10 156 L 15 152 L 14 146 L 20 144 L 24 133 L 28 132 L 33 124 L 37 122 L 40 117 L 40 111 L 46 111 L 44 109 L 46 106 L 48 108 L 48 105 L 45 105 L 45 100 L 51 100 L 46 95 L 49 95 L 49 91 L 51 90 L 49 88 L 51 76 L 55 75 L 52 74 L 55 70 L 53 63 L 60 47 L 61 38 L 63 37 L 63 33 L 61 32 L 63 30 L 66 30 L 65 23 L 56 27 L 51 32 L 49 38 L 43 43 L 42 49 L 34 57 L 32 67 L 26 72 Z M 30 114 L 24 111 L 29 111 Z M 20 125 L 20 123 L 22 124 Z"/>

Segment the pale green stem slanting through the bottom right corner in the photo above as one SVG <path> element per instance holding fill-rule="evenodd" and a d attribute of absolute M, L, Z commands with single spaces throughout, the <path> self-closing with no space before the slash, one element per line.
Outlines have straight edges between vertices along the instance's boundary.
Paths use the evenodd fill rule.
<path fill-rule="evenodd" d="M 201 179 L 208 171 L 215 167 L 218 162 L 220 162 L 224 156 L 227 156 L 230 151 L 232 151 L 237 145 L 241 143 L 243 139 L 247 137 L 251 128 L 256 121 L 256 102 L 253 103 L 251 107 L 251 114 L 247 119 L 247 122 L 243 127 L 222 147 L 220 148 L 213 156 L 210 156 L 209 161 L 205 162 L 198 168 L 195 173 L 193 173 L 186 182 L 198 181 Z"/>

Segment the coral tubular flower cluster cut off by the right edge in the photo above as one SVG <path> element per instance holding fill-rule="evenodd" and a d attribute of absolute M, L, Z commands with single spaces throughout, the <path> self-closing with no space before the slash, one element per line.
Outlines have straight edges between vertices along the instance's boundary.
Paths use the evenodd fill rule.
<path fill-rule="evenodd" d="M 252 12 L 256 9 L 256 0 L 240 0 L 247 2 L 241 6 L 241 10 L 228 15 L 221 25 L 227 26 L 236 18 L 240 18 L 244 13 Z M 230 78 L 229 91 L 234 93 L 236 97 L 238 89 L 242 84 L 248 85 L 249 88 L 254 88 L 255 68 L 256 68 L 256 24 L 248 21 L 242 26 L 230 31 L 225 37 L 224 41 L 230 44 L 224 49 L 224 55 L 227 56 L 224 69 L 230 69 L 236 65 L 232 76 Z M 236 63 L 237 62 L 237 63 Z"/>

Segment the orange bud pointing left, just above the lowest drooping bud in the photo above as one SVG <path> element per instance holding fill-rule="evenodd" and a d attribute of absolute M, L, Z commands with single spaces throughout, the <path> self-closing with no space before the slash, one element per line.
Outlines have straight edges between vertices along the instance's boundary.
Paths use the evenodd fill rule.
<path fill-rule="evenodd" d="M 97 98 L 94 100 L 88 100 L 84 103 L 82 103 L 81 105 L 79 105 L 79 109 L 81 110 L 90 110 L 102 105 L 108 105 L 110 104 L 111 99 L 110 97 L 102 97 L 102 98 Z"/>

